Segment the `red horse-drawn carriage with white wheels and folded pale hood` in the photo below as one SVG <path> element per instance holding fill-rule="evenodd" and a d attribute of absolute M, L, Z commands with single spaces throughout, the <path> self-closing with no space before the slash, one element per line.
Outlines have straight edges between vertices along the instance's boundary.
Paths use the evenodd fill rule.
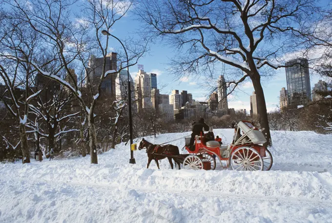
<path fill-rule="evenodd" d="M 183 161 L 185 169 L 216 168 L 216 158 L 223 168 L 233 170 L 270 170 L 272 155 L 264 147 L 266 138 L 262 131 L 251 122 L 242 121 L 237 125 L 237 138 L 228 145 L 220 145 L 217 141 L 207 141 L 204 135 L 195 137 L 195 148 L 189 148 L 190 138 L 186 138 L 186 149 L 189 153 Z M 240 133 L 242 131 L 242 135 Z M 180 155 L 181 156 L 181 155 Z"/>

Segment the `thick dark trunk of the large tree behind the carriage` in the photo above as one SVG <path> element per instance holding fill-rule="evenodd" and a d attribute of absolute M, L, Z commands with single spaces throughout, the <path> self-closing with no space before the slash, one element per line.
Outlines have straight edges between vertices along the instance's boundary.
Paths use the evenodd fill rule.
<path fill-rule="evenodd" d="M 263 133 L 267 142 L 264 143 L 264 146 L 268 146 L 271 144 L 271 134 L 270 134 L 268 112 L 266 109 L 265 96 L 260 79 L 261 78 L 258 73 L 253 74 L 253 76 L 251 77 L 252 85 L 256 93 L 259 123 L 261 124 L 261 128 L 265 128 Z"/>

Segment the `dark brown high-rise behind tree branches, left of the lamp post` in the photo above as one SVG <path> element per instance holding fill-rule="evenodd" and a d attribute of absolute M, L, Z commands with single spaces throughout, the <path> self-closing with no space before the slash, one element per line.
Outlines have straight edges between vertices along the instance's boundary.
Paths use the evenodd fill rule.
<path fill-rule="evenodd" d="M 103 65 L 104 58 L 96 58 L 95 56 L 91 56 L 87 69 L 87 76 L 89 77 L 86 80 L 85 84 L 97 85 L 100 81 L 100 77 L 103 73 Z M 106 56 L 105 61 L 105 72 L 109 70 L 117 70 L 117 53 L 109 53 Z M 116 96 L 115 91 L 115 79 L 117 77 L 117 73 L 109 74 L 102 82 L 102 93 L 111 96 L 112 98 Z M 90 83 L 89 83 L 90 81 Z"/>

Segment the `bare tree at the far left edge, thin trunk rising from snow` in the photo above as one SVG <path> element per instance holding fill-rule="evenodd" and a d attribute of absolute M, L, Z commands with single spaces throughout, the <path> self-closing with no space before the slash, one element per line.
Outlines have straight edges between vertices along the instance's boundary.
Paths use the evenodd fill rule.
<path fill-rule="evenodd" d="M 36 69 L 31 62 L 38 54 L 37 45 L 40 36 L 31 33 L 30 28 L 21 24 L 20 20 L 13 18 L 11 13 L 1 11 L 0 14 L 0 77 L 6 89 L 0 97 L 9 114 L 15 118 L 20 132 L 20 141 L 16 145 L 10 143 L 6 138 L 3 139 L 14 149 L 21 144 L 22 162 L 29 163 L 30 154 L 26 131 L 29 103 L 42 91 L 34 92 L 30 88 L 36 74 Z M 20 58 L 22 61 L 15 60 L 16 58 Z"/>

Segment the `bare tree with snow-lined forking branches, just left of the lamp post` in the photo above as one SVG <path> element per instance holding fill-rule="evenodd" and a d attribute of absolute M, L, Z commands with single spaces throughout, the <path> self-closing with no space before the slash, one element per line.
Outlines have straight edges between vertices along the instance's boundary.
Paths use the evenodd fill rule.
<path fill-rule="evenodd" d="M 87 0 L 83 3 L 80 17 L 74 18 L 74 9 L 77 2 L 72 0 L 15 0 L 5 1 L 15 14 L 18 20 L 28 24 L 34 32 L 41 36 L 41 40 L 45 43 L 46 52 L 54 52 L 52 60 L 59 61 L 59 67 L 54 70 L 47 70 L 46 63 L 39 64 L 38 61 L 31 64 L 45 77 L 60 82 L 70 91 L 79 101 L 83 112 L 85 113 L 87 125 L 89 129 L 89 147 L 91 163 L 98 163 L 96 148 L 96 126 L 95 114 L 97 101 L 100 100 L 101 88 L 104 79 L 108 75 L 116 74 L 116 70 L 105 71 L 108 36 L 106 43 L 102 39 L 102 30 L 111 31 L 113 25 L 123 18 L 132 1 L 127 0 Z M 70 19 L 71 18 L 71 19 Z M 78 22 L 73 22 L 77 20 Z M 137 60 L 143 56 L 146 50 L 146 44 L 137 44 L 133 42 L 135 47 L 129 48 L 129 44 L 125 44 L 129 48 L 129 66 L 137 63 Z M 88 99 L 82 97 L 79 84 L 75 82 L 75 77 L 70 69 L 73 67 L 81 67 L 88 73 L 88 61 L 91 52 L 101 55 L 104 58 L 102 74 L 96 84 L 90 84 L 88 90 Z M 27 62 L 19 57 L 17 60 Z M 122 63 L 122 62 L 121 62 Z M 126 66 L 122 66 L 126 68 Z M 61 79 L 58 76 L 60 71 L 64 70 L 72 83 Z M 86 83 L 92 83 L 87 75 Z"/>

